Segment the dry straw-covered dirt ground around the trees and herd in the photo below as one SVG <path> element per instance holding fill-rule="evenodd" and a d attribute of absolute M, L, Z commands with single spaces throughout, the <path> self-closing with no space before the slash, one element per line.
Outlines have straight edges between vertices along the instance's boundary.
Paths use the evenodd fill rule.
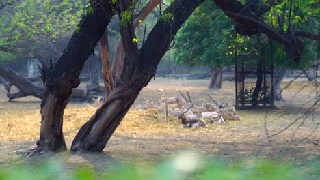
<path fill-rule="evenodd" d="M 288 82 L 284 82 L 286 86 Z M 190 91 L 194 102 L 209 102 L 211 94 L 219 102 L 235 102 L 234 82 L 223 82 L 222 89 L 207 89 L 209 80 L 152 80 L 142 90 L 137 104 L 146 99 L 158 103 L 157 88 L 167 97 L 179 96 L 177 90 Z M 283 92 L 284 100 L 276 102 L 276 109 L 237 110 L 241 121 L 209 124 L 204 129 L 181 129 L 178 120 L 170 117 L 169 125 L 163 114 L 155 110 L 130 110 L 103 153 L 61 153 L 25 157 L 14 151 L 35 147 L 40 128 L 40 100 L 25 97 L 7 102 L 5 89 L 0 85 L 0 167 L 23 162 L 37 163 L 48 159 L 62 161 L 66 172 L 77 166 L 94 170 L 111 168 L 117 162 L 153 164 L 156 160 L 172 157 L 178 151 L 195 149 L 204 157 L 216 157 L 228 162 L 246 158 L 270 158 L 308 163 L 320 158 L 320 110 L 303 116 L 288 130 L 291 122 L 304 115 L 315 99 L 315 85 L 311 82 L 293 82 Z M 311 100 L 311 101 L 310 101 Z M 309 102 L 310 101 L 310 102 Z M 95 104 L 70 103 L 64 113 L 64 135 L 70 148 L 72 138 L 98 108 Z"/>

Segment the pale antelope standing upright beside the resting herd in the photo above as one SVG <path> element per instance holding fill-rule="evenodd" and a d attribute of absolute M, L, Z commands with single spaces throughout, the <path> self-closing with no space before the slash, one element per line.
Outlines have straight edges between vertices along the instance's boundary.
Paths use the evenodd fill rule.
<path fill-rule="evenodd" d="M 169 105 L 174 105 L 175 107 L 178 107 L 178 109 L 182 113 L 183 108 L 185 108 L 186 101 L 182 97 L 163 97 L 163 95 L 165 95 L 163 89 L 157 89 L 157 91 L 159 91 L 159 103 L 163 107 L 163 110 L 165 112 L 165 120 L 168 123 Z"/>

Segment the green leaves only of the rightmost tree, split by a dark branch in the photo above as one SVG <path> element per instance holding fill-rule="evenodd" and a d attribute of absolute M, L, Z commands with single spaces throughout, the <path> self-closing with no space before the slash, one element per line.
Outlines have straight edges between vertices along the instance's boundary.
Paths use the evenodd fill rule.
<path fill-rule="evenodd" d="M 277 31 L 289 33 L 289 31 L 308 31 L 319 34 L 320 29 L 320 3 L 319 1 L 292 1 L 292 10 L 290 12 L 290 1 L 282 1 L 265 14 L 265 22 L 269 23 Z M 290 19 L 289 19 L 290 17 Z M 290 26 L 290 29 L 289 29 Z M 288 68 L 304 69 L 310 67 L 317 57 L 317 42 L 300 38 L 304 44 L 304 54 L 302 61 L 296 65 L 290 61 L 289 55 L 286 54 L 284 47 L 278 42 L 274 42 L 271 48 L 274 51 L 274 64 L 283 65 Z"/>

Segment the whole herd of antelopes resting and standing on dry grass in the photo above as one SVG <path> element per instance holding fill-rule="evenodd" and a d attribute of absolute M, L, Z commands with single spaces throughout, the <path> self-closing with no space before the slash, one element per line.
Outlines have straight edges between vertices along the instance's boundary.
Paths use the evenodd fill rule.
<path fill-rule="evenodd" d="M 147 105 L 139 105 L 135 109 L 156 109 L 158 112 L 164 112 L 167 123 L 168 113 L 175 115 L 181 120 L 181 128 L 208 127 L 203 119 L 209 119 L 211 123 L 240 120 L 236 114 L 235 107 L 229 106 L 228 103 L 226 103 L 226 107 L 223 107 L 222 104 L 216 102 L 210 95 L 208 96 L 213 103 L 194 106 L 189 91 L 187 92 L 188 99 L 181 91 L 179 92 L 182 97 L 164 97 L 165 93 L 163 89 L 157 89 L 157 91 L 159 91 L 159 103 L 161 106 L 155 106 L 152 100 L 146 100 Z M 189 106 L 187 110 L 185 110 L 186 106 Z"/>

